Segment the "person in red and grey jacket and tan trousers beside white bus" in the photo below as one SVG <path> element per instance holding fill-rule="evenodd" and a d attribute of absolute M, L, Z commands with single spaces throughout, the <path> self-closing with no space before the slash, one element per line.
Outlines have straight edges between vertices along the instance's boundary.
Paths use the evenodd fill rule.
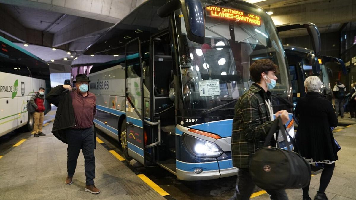
<path fill-rule="evenodd" d="M 33 94 L 30 99 L 30 103 L 36 109 L 33 113 L 33 119 L 35 120 L 35 125 L 33 125 L 33 137 L 46 136 L 45 133 L 42 132 L 43 127 L 43 119 L 45 116 L 45 88 L 38 89 L 38 92 Z"/>

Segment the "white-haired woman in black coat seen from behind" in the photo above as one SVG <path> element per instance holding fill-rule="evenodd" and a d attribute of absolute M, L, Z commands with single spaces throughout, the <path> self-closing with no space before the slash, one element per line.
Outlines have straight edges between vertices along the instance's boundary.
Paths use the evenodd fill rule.
<path fill-rule="evenodd" d="M 337 160 L 336 144 L 330 127 L 337 126 L 333 105 L 320 96 L 319 77 L 310 76 L 304 81 L 305 95 L 298 100 L 295 116 L 299 120 L 295 144 L 301 156 L 310 164 L 323 163 L 318 193 L 314 199 L 327 200 L 325 189 L 333 176 Z M 303 188 L 303 200 L 310 200 L 309 185 Z"/>

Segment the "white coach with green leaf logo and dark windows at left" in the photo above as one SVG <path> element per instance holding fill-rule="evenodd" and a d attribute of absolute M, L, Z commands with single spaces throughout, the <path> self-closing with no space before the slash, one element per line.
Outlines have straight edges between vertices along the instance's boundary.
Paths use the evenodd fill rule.
<path fill-rule="evenodd" d="M 0 36 L 0 136 L 17 128 L 33 130 L 27 100 L 38 88 L 51 90 L 48 64 Z M 45 101 L 45 114 L 51 105 Z"/>

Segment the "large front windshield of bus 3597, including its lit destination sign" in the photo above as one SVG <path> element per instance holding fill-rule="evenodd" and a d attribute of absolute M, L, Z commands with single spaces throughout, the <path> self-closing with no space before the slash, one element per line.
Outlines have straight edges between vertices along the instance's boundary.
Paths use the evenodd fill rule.
<path fill-rule="evenodd" d="M 271 17 L 240 1 L 205 6 L 203 44 L 189 41 L 183 18 L 177 20 L 185 109 L 211 109 L 238 99 L 253 83 L 249 68 L 258 59 L 271 59 L 279 66 L 277 85 L 271 92 L 287 100 L 286 58 Z"/>

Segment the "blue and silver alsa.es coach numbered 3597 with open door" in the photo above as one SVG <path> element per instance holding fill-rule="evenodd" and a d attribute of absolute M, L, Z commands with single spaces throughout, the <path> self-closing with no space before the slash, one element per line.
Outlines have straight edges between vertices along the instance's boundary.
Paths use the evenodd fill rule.
<path fill-rule="evenodd" d="M 265 10 L 245 1 L 145 1 L 82 56 L 86 63 L 75 63 L 72 77 L 85 72 L 91 80 L 96 128 L 119 140 L 127 159 L 159 165 L 180 180 L 236 175 L 234 106 L 252 84 L 249 67 L 257 59 L 279 66 L 273 110 L 291 113 L 287 126 L 294 133 L 277 28 Z"/>

